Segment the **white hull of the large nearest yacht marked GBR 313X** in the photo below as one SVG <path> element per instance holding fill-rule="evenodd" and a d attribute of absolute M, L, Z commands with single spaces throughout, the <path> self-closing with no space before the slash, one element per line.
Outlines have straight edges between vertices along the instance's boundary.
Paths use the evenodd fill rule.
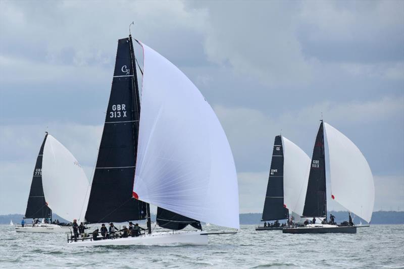
<path fill-rule="evenodd" d="M 208 235 L 196 232 L 157 232 L 138 237 L 127 237 L 102 240 L 80 240 L 69 243 L 72 246 L 151 246 L 151 245 L 207 245 Z"/>

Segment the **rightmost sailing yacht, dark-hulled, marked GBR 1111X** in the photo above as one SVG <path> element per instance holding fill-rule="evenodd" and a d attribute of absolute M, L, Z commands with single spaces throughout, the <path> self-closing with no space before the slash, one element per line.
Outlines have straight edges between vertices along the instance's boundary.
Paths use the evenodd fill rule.
<path fill-rule="evenodd" d="M 316 222 L 304 227 L 286 228 L 283 233 L 355 234 L 358 227 L 367 227 L 354 225 L 351 220 L 350 223 L 340 225 L 327 222 L 324 130 L 329 151 L 331 198 L 349 210 L 349 218 L 350 212 L 353 212 L 368 223 L 371 221 L 375 188 L 369 164 L 349 138 L 321 120 L 313 149 L 302 217 L 321 218 L 324 219 L 324 224 Z"/>

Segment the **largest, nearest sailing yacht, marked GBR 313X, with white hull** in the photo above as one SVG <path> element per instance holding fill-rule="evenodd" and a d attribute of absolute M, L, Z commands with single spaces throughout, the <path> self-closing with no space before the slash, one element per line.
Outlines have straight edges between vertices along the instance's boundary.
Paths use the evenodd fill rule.
<path fill-rule="evenodd" d="M 71 245 L 208 244 L 200 222 L 239 229 L 233 155 L 212 107 L 158 52 L 118 40 L 111 95 L 92 180 L 88 223 L 146 220 L 138 237 L 69 240 Z M 136 66 L 137 65 L 137 66 Z M 137 68 L 143 75 L 141 102 Z M 150 204 L 158 206 L 151 228 Z M 190 225 L 192 231 L 180 231 Z M 98 240 L 96 240 L 98 239 Z"/>

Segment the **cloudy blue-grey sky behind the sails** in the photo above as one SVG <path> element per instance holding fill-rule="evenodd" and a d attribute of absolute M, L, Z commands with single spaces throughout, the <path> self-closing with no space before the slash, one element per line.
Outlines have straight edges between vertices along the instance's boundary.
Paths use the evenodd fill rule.
<path fill-rule="evenodd" d="M 404 209 L 404 2 L 1 1 L 0 213 L 25 211 L 46 130 L 91 178 L 132 21 L 213 106 L 241 212 L 262 211 L 274 136 L 311 156 L 321 113 L 367 158 L 375 210 Z"/>

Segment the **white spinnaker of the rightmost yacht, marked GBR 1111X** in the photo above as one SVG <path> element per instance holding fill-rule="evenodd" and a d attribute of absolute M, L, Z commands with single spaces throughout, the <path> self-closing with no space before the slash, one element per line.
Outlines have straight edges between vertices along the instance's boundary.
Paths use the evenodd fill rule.
<path fill-rule="evenodd" d="M 328 123 L 324 123 L 324 129 L 329 151 L 332 197 L 369 223 L 375 202 L 375 186 L 369 164 L 349 138 Z"/>

